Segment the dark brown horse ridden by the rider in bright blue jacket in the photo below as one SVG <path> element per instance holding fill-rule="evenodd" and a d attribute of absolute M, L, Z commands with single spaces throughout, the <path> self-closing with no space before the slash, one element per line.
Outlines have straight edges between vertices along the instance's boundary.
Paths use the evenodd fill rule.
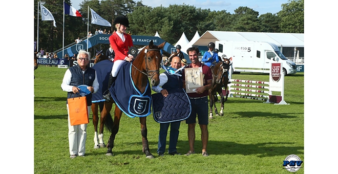
<path fill-rule="evenodd" d="M 215 107 L 215 114 L 217 116 L 223 116 L 223 109 L 224 109 L 224 102 L 228 99 L 228 71 L 231 66 L 231 62 L 229 59 L 224 59 L 224 61 L 218 62 L 214 67 L 211 68 L 213 74 L 213 84 L 212 88 L 208 90 L 209 92 L 209 99 L 210 99 L 210 110 L 209 110 L 209 118 L 213 117 L 213 106 Z M 224 85 L 224 89 L 226 91 L 226 97 L 224 99 L 222 93 L 222 85 Z M 216 94 L 220 95 L 220 102 L 221 102 L 221 111 L 218 114 L 217 107 L 216 107 Z"/>

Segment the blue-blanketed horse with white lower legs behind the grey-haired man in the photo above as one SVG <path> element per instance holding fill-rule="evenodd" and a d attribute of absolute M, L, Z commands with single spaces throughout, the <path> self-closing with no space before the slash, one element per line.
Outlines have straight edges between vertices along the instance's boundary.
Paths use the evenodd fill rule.
<path fill-rule="evenodd" d="M 104 122 L 106 119 L 112 120 L 110 113 L 107 113 L 107 116 L 103 117 L 100 115 L 100 127 L 99 132 L 97 132 L 99 117 L 98 117 L 98 108 L 100 108 L 100 113 L 104 107 L 104 99 L 102 97 L 102 93 L 108 90 L 108 79 L 109 74 L 111 73 L 111 68 L 113 67 L 113 63 L 109 60 L 107 56 L 105 56 L 101 51 L 96 50 L 95 60 L 93 69 L 96 70 L 96 75 L 98 76 L 98 81 L 100 81 L 98 92 L 94 93 L 92 96 L 92 113 L 93 113 L 93 124 L 94 124 L 94 149 L 98 149 L 100 147 L 105 147 L 103 141 L 103 128 Z M 105 61 L 107 60 L 107 61 Z M 108 61 L 109 60 L 109 61 Z M 101 62 L 101 63 L 98 63 Z M 98 64 L 97 64 L 98 63 Z M 109 127 L 105 126 L 107 129 Z"/>

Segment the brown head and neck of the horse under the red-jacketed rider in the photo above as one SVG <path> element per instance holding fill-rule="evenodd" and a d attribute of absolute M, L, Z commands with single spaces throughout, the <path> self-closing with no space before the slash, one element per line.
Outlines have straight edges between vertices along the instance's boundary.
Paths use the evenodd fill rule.
<path fill-rule="evenodd" d="M 160 67 L 162 60 L 162 50 L 165 45 L 154 45 L 153 40 L 149 45 L 144 47 L 133 61 L 133 66 L 141 71 L 142 74 L 150 78 L 151 84 L 156 86 L 160 82 Z"/>

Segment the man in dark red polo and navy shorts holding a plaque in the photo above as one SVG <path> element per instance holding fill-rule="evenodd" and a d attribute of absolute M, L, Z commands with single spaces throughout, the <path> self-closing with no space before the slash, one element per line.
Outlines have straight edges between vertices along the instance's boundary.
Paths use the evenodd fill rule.
<path fill-rule="evenodd" d="M 186 68 L 200 68 L 203 73 L 203 86 L 196 89 L 195 93 L 188 93 L 189 100 L 192 106 L 192 112 L 189 118 L 185 120 L 188 124 L 188 141 L 189 151 L 185 156 L 195 154 L 195 126 L 196 116 L 198 117 L 198 124 L 201 128 L 201 139 L 202 139 L 202 156 L 209 156 L 206 152 L 206 146 L 208 143 L 208 90 L 212 87 L 213 76 L 210 68 L 205 66 L 198 60 L 199 49 L 197 47 L 188 48 L 186 51 L 189 55 L 189 59 L 192 61 Z M 182 75 L 183 86 L 185 87 L 185 76 L 184 72 Z"/>

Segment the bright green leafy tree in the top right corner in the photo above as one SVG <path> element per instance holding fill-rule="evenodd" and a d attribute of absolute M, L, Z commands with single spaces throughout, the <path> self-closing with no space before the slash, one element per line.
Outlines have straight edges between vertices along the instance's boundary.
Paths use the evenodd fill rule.
<path fill-rule="evenodd" d="M 281 18 L 281 32 L 304 33 L 304 0 L 289 0 L 277 15 Z"/>

